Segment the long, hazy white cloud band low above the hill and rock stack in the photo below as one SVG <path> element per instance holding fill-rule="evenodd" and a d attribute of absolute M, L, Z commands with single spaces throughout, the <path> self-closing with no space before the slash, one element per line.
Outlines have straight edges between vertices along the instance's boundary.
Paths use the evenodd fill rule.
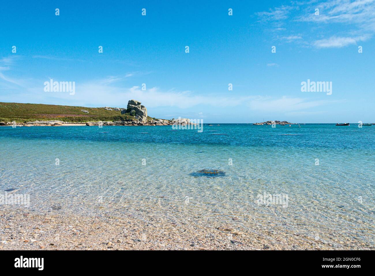
<path fill-rule="evenodd" d="M 157 87 L 141 90 L 139 86 L 130 88 L 113 87 L 100 83 L 77 84 L 75 95 L 71 96 L 64 92 L 44 92 L 43 86 L 28 90 L 28 95 L 23 98 L 29 99 L 53 99 L 55 103 L 69 102 L 69 105 L 101 107 L 116 106 L 125 107 L 130 99 L 136 99 L 147 108 L 175 107 L 181 109 L 194 108 L 198 105 L 223 110 L 228 107 L 248 106 L 252 111 L 265 112 L 293 112 L 305 111 L 309 108 L 335 103 L 336 101 L 321 100 L 311 101 L 304 98 L 274 98 L 269 96 L 225 96 L 214 93 L 204 96 L 196 95 L 190 91 L 177 92 L 175 90 L 161 91 Z M 26 100 L 26 99 L 25 99 Z M 35 100 L 34 100 L 35 101 Z M 51 103 L 51 102 L 50 102 Z M 203 115 L 200 114 L 199 115 Z"/>

